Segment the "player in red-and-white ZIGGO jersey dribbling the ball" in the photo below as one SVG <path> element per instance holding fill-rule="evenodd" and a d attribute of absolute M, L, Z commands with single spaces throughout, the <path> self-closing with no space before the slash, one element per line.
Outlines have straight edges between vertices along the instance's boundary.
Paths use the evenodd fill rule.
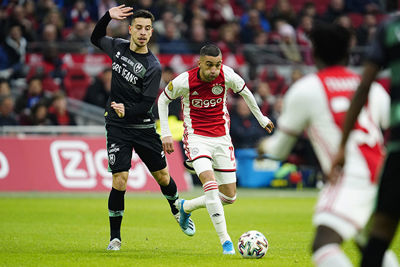
<path fill-rule="evenodd" d="M 222 54 L 215 45 L 200 50 L 197 68 L 172 80 L 161 93 L 158 110 L 162 143 L 172 153 L 173 141 L 168 127 L 168 104 L 182 98 L 184 115 L 184 150 L 189 167 L 193 167 L 203 184 L 204 195 L 192 200 L 179 199 L 180 226 L 187 234 L 192 211 L 207 208 L 220 239 L 224 254 L 235 254 L 226 228 L 223 204 L 236 199 L 236 163 L 229 135 L 229 113 L 226 105 L 228 89 L 240 94 L 261 127 L 271 133 L 274 125 L 264 116 L 244 80 L 222 64 Z M 189 235 L 193 235 L 194 231 Z"/>

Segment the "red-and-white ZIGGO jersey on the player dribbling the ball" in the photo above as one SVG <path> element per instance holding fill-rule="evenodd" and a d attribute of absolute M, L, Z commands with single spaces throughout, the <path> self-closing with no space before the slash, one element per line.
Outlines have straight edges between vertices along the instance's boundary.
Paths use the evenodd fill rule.
<path fill-rule="evenodd" d="M 170 100 L 182 97 L 185 133 L 210 137 L 228 135 L 227 91 L 232 89 L 239 93 L 245 88 L 245 82 L 225 65 L 212 82 L 201 81 L 198 71 L 199 68 L 195 68 L 180 74 L 168 84 L 164 93 Z"/>

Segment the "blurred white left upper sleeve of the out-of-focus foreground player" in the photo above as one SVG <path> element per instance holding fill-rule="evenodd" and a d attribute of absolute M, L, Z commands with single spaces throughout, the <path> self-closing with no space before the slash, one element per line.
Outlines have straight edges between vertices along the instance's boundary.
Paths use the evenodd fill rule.
<path fill-rule="evenodd" d="M 307 88 L 297 82 L 289 88 L 283 98 L 282 113 L 278 118 L 278 127 L 292 135 L 299 135 L 307 126 L 312 103 Z"/>

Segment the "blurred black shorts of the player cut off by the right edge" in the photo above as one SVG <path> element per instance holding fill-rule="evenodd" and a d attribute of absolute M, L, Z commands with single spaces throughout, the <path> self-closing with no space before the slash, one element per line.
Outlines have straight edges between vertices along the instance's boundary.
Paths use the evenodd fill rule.
<path fill-rule="evenodd" d="M 376 210 L 400 216 L 400 152 L 389 152 L 381 175 Z"/>

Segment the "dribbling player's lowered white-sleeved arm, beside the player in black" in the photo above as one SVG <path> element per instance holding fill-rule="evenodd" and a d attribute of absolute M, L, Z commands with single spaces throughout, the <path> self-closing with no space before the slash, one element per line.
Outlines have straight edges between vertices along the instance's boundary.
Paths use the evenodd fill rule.
<path fill-rule="evenodd" d="M 167 87 L 169 86 L 172 88 L 172 82 L 167 85 Z M 167 88 L 165 90 L 167 90 Z M 164 152 L 171 154 L 174 152 L 174 141 L 168 125 L 168 105 L 171 103 L 172 99 L 167 97 L 165 90 L 158 97 L 158 117 L 160 118 L 161 141 Z"/>

